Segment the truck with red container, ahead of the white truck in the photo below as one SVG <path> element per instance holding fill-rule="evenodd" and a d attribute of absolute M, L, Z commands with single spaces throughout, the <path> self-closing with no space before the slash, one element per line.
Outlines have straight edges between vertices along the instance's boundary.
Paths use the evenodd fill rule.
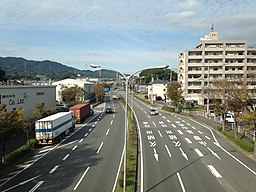
<path fill-rule="evenodd" d="M 69 108 L 76 119 L 76 123 L 82 123 L 84 118 L 93 114 L 90 103 L 81 103 Z"/>

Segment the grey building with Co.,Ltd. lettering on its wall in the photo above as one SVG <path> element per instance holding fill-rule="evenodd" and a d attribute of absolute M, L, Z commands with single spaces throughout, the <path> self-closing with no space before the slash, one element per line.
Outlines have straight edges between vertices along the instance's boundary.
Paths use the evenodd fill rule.
<path fill-rule="evenodd" d="M 38 106 L 55 108 L 55 93 L 55 86 L 0 86 L 0 104 L 7 112 L 23 108 L 25 116 L 29 116 Z"/>

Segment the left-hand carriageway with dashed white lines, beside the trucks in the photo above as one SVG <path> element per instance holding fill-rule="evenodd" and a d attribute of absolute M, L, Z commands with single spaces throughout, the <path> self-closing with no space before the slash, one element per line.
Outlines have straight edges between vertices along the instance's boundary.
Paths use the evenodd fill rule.
<path fill-rule="evenodd" d="M 42 147 L 1 178 L 0 191 L 113 191 L 124 152 L 124 109 L 96 111 L 63 142 Z"/>

